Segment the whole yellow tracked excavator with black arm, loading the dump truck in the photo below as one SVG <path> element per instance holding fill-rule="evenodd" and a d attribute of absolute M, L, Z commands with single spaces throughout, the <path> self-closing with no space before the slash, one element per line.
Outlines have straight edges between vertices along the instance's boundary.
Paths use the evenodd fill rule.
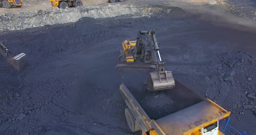
<path fill-rule="evenodd" d="M 136 41 L 122 43 L 119 62 L 115 69 L 119 72 L 149 72 L 148 90 L 167 90 L 175 87 L 172 71 L 167 71 L 159 52 L 155 31 L 139 31 Z"/>

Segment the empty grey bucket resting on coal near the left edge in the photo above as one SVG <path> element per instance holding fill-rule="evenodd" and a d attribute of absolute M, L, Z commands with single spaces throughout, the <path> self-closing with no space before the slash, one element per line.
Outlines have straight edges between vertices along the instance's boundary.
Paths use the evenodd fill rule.
<path fill-rule="evenodd" d="M 28 57 L 25 53 L 20 53 L 13 58 L 7 59 L 7 64 L 13 66 L 16 70 L 20 71 L 28 64 Z"/>

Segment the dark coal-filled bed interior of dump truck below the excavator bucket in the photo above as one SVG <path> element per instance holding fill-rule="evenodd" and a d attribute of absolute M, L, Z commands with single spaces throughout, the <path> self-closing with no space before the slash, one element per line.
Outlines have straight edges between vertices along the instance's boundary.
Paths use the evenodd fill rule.
<path fill-rule="evenodd" d="M 175 88 L 170 90 L 152 92 L 141 87 L 131 90 L 131 94 L 151 119 L 160 119 L 204 101 L 178 80 L 175 80 L 175 84 Z"/>

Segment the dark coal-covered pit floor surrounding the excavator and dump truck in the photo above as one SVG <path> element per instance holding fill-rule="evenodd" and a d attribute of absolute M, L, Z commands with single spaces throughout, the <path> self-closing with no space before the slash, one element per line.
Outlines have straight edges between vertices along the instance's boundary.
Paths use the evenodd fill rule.
<path fill-rule="evenodd" d="M 105 12 L 120 7 L 124 11 L 118 16 Z M 156 30 L 161 56 L 177 80 L 231 111 L 230 124 L 236 129 L 256 134 L 254 27 L 223 26 L 211 20 L 216 17 L 212 14 L 207 14 L 207 20 L 168 6 L 121 4 L 74 10 L 81 19 L 75 23 L 63 19 L 67 24 L 59 25 L 43 18 L 54 12 L 58 22 L 58 16 L 73 10 L 0 16 L 0 41 L 13 53 L 25 52 L 29 57 L 29 65 L 20 73 L 0 57 L 3 135 L 132 135 L 118 86 L 125 83 L 133 93 L 146 91 L 147 74 L 117 73 L 115 65 L 121 42 L 135 39 L 139 29 Z M 86 16 L 95 19 L 82 18 Z M 33 24 L 43 26 L 30 28 L 33 19 Z M 16 20 L 23 30 L 6 26 Z M 153 100 L 165 102 L 165 95 L 153 94 Z"/>

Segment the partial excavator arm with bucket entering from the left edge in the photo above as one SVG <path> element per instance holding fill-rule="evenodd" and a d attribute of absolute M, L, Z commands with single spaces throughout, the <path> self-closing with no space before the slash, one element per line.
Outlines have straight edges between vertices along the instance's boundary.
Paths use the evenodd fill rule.
<path fill-rule="evenodd" d="M 7 58 L 7 64 L 13 66 L 18 71 L 28 64 L 28 57 L 25 53 L 12 55 L 11 51 L 2 42 L 0 42 L 0 54 Z"/>

